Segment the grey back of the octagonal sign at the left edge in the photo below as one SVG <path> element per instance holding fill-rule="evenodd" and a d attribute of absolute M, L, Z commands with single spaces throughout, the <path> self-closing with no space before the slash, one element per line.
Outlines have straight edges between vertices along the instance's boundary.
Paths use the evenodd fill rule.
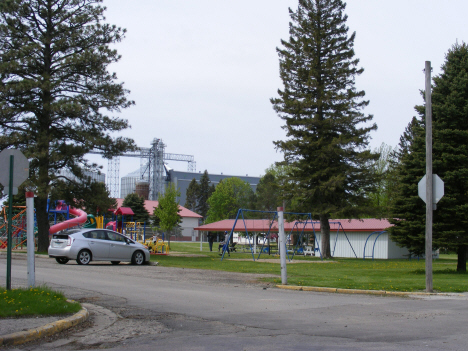
<path fill-rule="evenodd" d="M 29 177 L 29 161 L 20 150 L 5 149 L 0 152 L 0 183 L 10 185 L 10 156 L 13 160 L 13 187 L 19 187 Z"/>

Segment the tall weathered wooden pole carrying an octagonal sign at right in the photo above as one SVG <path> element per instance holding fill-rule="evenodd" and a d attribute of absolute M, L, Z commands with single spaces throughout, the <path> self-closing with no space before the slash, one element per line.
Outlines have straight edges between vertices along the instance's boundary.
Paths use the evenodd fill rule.
<path fill-rule="evenodd" d="M 432 292 L 432 101 L 431 61 L 426 61 L 426 292 Z"/>

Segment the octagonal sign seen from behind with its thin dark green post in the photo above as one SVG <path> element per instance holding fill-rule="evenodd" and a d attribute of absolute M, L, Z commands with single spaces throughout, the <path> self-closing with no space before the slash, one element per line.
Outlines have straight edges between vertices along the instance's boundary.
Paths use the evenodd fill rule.
<path fill-rule="evenodd" d="M 4 167 L 9 165 L 8 167 Z M 3 166 L 3 167 L 2 167 Z M 19 150 L 5 149 L 0 152 L 0 183 L 8 187 L 8 237 L 7 237 L 7 274 L 6 288 L 11 290 L 11 248 L 13 195 L 18 194 L 18 187 L 29 176 L 29 161 Z M 28 245 L 29 246 L 29 245 Z"/>

